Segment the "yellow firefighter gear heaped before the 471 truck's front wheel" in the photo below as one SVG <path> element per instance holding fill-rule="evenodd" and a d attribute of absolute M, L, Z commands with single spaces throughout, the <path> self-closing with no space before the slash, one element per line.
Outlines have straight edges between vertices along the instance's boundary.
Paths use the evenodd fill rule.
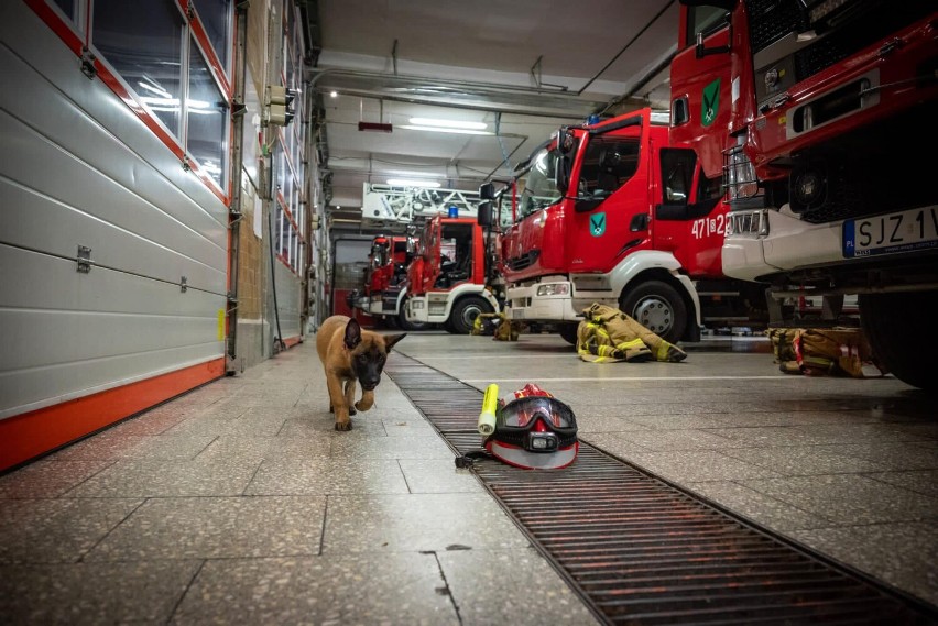
<path fill-rule="evenodd" d="M 687 359 L 684 350 L 619 309 L 593 303 L 583 309 L 583 317 L 577 328 L 577 353 L 583 361 L 677 363 Z"/>

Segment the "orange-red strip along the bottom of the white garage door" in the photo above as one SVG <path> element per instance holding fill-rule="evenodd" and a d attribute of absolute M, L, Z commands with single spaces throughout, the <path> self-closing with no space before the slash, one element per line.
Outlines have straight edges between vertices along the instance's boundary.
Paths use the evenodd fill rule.
<path fill-rule="evenodd" d="M 35 459 L 223 375 L 225 359 L 216 359 L 0 420 L 0 471 Z"/>

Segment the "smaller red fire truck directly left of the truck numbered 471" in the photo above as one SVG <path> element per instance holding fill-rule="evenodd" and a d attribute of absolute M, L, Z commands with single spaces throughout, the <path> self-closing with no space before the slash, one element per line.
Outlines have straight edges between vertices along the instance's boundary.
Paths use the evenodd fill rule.
<path fill-rule="evenodd" d="M 490 239 L 477 218 L 427 220 L 407 267 L 405 315 L 411 323 L 441 323 L 469 334 L 479 314 L 502 308 L 492 286 Z"/>

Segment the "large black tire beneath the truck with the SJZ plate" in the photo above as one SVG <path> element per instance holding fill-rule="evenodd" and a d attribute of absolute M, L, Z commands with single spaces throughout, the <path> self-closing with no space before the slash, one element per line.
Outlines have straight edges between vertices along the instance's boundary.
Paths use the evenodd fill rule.
<path fill-rule="evenodd" d="M 860 294 L 857 300 L 860 323 L 879 364 L 904 383 L 938 392 L 934 319 L 938 290 Z"/>

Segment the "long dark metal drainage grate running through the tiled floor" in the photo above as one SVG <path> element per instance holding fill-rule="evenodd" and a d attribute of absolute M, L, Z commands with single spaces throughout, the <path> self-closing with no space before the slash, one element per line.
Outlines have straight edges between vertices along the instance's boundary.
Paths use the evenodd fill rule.
<path fill-rule="evenodd" d="M 454 451 L 480 449 L 482 392 L 401 354 L 384 371 Z M 607 624 L 938 624 L 932 607 L 582 441 L 563 470 L 472 471 Z"/>

